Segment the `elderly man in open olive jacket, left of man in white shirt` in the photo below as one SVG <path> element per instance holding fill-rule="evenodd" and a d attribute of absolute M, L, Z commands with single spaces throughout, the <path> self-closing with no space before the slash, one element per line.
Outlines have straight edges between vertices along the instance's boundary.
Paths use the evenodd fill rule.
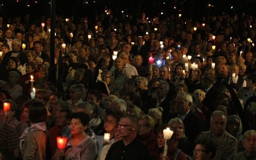
<path fill-rule="evenodd" d="M 131 74 L 124 68 L 124 60 L 118 57 L 114 62 L 115 70 L 111 72 L 112 78 L 110 81 L 111 86 L 109 87 L 110 92 L 120 93 L 124 88 L 124 84 L 127 79 L 131 78 Z"/>

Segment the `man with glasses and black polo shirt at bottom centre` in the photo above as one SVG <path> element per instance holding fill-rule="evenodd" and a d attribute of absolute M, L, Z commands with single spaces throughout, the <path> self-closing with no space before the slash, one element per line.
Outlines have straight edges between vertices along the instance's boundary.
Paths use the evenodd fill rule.
<path fill-rule="evenodd" d="M 148 149 L 136 139 L 138 121 L 132 115 L 123 116 L 118 123 L 118 133 L 123 140 L 116 141 L 109 148 L 106 160 L 109 159 L 152 159 Z"/>

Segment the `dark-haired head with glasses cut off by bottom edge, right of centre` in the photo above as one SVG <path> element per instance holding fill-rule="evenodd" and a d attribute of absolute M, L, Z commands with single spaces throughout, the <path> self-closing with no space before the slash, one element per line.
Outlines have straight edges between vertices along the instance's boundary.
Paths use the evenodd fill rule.
<path fill-rule="evenodd" d="M 193 156 L 195 160 L 211 160 L 216 154 L 216 147 L 209 140 L 199 140 L 195 143 Z"/>

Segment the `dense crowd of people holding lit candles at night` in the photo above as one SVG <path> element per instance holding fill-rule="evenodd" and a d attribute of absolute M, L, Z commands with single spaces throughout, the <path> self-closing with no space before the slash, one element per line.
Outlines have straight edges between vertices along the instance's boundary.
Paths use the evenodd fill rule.
<path fill-rule="evenodd" d="M 252 16 L 106 13 L 0 17 L 1 159 L 256 159 Z"/>

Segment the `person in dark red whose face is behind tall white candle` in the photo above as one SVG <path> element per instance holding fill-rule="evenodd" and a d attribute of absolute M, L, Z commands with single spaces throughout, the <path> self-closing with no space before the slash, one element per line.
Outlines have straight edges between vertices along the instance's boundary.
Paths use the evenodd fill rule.
<path fill-rule="evenodd" d="M 167 140 L 167 154 L 164 156 L 164 143 L 166 140 L 164 140 L 164 134 L 163 130 L 166 129 L 166 127 L 169 127 L 172 131 L 172 138 L 170 140 Z M 173 127 L 170 127 L 169 125 L 163 124 L 160 125 L 157 128 L 157 148 L 150 153 L 150 155 L 156 159 L 156 160 L 161 160 L 161 159 L 166 159 L 166 160 L 174 160 L 174 159 L 179 159 L 179 160 L 187 160 L 188 157 L 184 152 L 179 150 L 176 145 L 174 145 L 176 140 L 176 131 L 173 129 Z"/>

